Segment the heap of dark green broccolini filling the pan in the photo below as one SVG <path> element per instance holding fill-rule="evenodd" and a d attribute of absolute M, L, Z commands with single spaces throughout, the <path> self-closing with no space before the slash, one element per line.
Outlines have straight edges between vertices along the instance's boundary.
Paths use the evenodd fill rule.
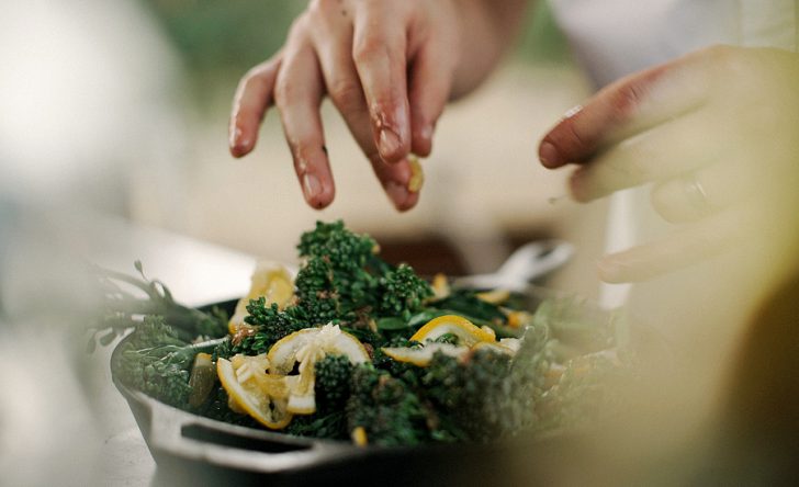
<path fill-rule="evenodd" d="M 262 428 L 230 410 L 225 389 L 215 377 L 209 380 L 207 371 L 195 371 L 194 384 L 202 390 L 192 389 L 189 378 L 196 353 L 213 351 L 214 362 L 238 353 L 257 355 L 297 330 L 337 324 L 363 343 L 372 360 L 353 365 L 344 355 L 318 359 L 316 411 L 294 416 L 282 431 L 349 440 L 353 430 L 362 429 L 368 443 L 376 445 L 488 442 L 585 423 L 594 417 L 592 403 L 607 404 L 617 397 L 605 381 L 624 374 L 617 363 L 598 358 L 567 363 L 552 386 L 554 361 L 612 344 L 611 327 L 593 326 L 575 313 L 579 305 L 574 302 L 544 304 L 531 325 L 517 330 L 508 326 L 507 316 L 524 299 L 486 303 L 474 290 L 453 290 L 448 297 L 434 299 L 430 286 L 410 267 L 385 262 L 372 238 L 351 233 L 341 222 L 317 223 L 302 235 L 297 250 L 302 264 L 294 282 L 295 299 L 284 309 L 262 297 L 250 301 L 248 327 L 234 337 L 227 335 L 224 315 L 175 303 L 162 284 L 144 274 L 137 279 L 109 273 L 106 319 L 97 340 L 110 342 L 133 328 L 115 367 L 123 383 L 202 416 Z M 140 272 L 140 265 L 137 269 Z M 148 298 L 134 298 L 115 282 L 138 287 Z M 518 350 L 511 355 L 473 349 L 458 359 L 438 352 L 424 367 L 398 362 L 381 350 L 424 347 L 410 337 L 446 314 L 489 326 L 497 337 L 520 337 Z M 203 336 L 224 338 L 191 344 Z M 444 333 L 436 341 L 458 344 L 458 337 Z M 567 356 L 559 354 L 564 349 Z M 206 362 L 204 358 L 204 366 L 213 370 Z"/>

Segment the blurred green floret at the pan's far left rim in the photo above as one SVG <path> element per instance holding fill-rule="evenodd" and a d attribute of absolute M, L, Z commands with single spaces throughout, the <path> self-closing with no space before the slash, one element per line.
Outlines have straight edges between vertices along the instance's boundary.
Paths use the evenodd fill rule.
<path fill-rule="evenodd" d="M 124 384 L 172 406 L 187 404 L 189 369 L 198 350 L 162 317 L 145 317 L 122 347 L 117 371 Z"/>

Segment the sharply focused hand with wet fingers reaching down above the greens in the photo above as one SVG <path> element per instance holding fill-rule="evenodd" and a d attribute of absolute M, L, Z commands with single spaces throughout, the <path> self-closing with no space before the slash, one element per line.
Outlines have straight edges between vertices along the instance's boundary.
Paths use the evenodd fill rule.
<path fill-rule="evenodd" d="M 230 152 L 255 147 L 266 110 L 280 110 L 303 193 L 323 208 L 335 188 L 319 116 L 329 95 L 400 211 L 418 201 L 409 155 L 426 157 L 448 100 L 493 67 L 525 0 L 314 0 L 285 45 L 239 83 Z"/>

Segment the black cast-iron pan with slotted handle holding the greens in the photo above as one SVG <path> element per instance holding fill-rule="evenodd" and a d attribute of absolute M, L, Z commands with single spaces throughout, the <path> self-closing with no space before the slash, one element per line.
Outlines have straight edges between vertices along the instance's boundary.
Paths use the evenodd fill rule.
<path fill-rule="evenodd" d="M 527 293 L 530 309 L 540 288 Z M 581 302 L 592 322 L 614 314 Z M 211 306 L 233 309 L 235 302 Z M 491 444 L 359 448 L 292 437 L 193 415 L 124 384 L 116 373 L 123 339 L 111 356 L 116 388 L 127 399 L 158 464 L 160 485 L 530 485 L 547 483 L 552 465 L 579 450 L 578 432 L 520 435 Z M 572 343 L 579 347 L 578 340 Z"/>

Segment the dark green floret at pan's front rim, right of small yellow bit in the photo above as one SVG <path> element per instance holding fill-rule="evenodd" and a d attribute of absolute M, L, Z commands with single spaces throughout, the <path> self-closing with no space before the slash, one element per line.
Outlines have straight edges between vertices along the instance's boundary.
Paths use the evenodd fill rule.
<path fill-rule="evenodd" d="M 364 429 L 370 444 L 415 445 L 430 438 L 427 407 L 403 381 L 369 364 L 352 372 L 347 427 Z"/>

